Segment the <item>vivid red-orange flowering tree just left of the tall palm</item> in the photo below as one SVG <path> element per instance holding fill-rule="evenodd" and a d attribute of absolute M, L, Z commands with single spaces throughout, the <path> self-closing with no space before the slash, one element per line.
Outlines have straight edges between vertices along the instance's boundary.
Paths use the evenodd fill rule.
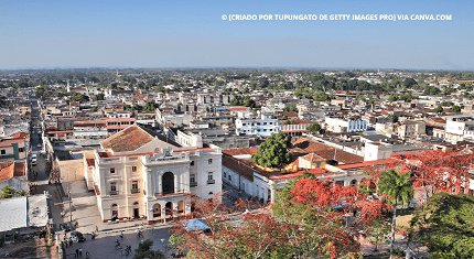
<path fill-rule="evenodd" d="M 304 229 L 306 235 L 299 239 L 299 246 L 304 248 L 301 249 L 303 258 L 322 253 L 336 258 L 356 256 L 362 228 L 380 218 L 387 208 L 391 207 L 355 187 L 302 177 L 278 193 L 273 213 L 280 220 Z M 348 217 L 356 213 L 357 217 Z"/>

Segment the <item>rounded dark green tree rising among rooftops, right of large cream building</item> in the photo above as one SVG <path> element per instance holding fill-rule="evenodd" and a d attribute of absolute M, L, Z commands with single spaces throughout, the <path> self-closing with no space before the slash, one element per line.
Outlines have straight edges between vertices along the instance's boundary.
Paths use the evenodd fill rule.
<path fill-rule="evenodd" d="M 251 161 L 267 168 L 280 166 L 290 162 L 291 155 L 287 149 L 290 144 L 290 137 L 287 133 L 272 133 L 251 155 Z"/>

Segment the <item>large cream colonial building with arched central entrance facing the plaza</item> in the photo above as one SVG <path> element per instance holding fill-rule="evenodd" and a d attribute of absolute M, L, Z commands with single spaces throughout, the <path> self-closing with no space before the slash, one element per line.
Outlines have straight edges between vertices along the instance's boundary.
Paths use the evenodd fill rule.
<path fill-rule="evenodd" d="M 149 224 L 190 214 L 191 196 L 222 192 L 222 152 L 216 145 L 182 148 L 133 125 L 104 140 L 91 168 L 104 222 L 146 217 Z"/>

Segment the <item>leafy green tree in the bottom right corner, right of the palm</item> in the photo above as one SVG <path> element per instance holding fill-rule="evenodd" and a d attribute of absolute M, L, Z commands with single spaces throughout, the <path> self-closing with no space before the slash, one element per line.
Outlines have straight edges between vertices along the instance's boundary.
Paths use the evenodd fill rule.
<path fill-rule="evenodd" d="M 437 193 L 410 220 L 432 258 L 474 258 L 474 196 Z"/>

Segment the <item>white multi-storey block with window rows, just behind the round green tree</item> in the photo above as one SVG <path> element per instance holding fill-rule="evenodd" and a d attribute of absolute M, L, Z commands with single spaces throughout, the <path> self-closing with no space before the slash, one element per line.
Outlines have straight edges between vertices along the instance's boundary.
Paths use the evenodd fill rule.
<path fill-rule="evenodd" d="M 237 134 L 258 134 L 260 137 L 269 137 L 272 133 L 281 131 L 281 126 L 278 119 L 272 115 L 261 115 L 261 119 L 237 119 Z"/>

